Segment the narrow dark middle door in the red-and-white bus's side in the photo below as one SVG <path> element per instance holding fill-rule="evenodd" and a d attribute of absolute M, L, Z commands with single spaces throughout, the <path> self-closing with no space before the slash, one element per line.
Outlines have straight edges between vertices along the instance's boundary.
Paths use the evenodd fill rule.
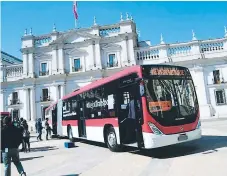
<path fill-rule="evenodd" d="M 79 137 L 86 138 L 86 123 L 85 123 L 85 116 L 84 116 L 84 103 L 85 102 L 79 102 L 79 119 L 78 119 L 78 132 Z"/>

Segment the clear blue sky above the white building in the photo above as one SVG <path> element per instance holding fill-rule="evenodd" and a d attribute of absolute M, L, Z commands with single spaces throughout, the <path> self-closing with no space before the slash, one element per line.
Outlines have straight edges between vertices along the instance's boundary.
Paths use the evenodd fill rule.
<path fill-rule="evenodd" d="M 79 1 L 79 27 L 91 27 L 93 18 L 99 25 L 120 21 L 120 13 L 133 16 L 140 40 L 160 43 L 187 42 L 192 30 L 199 40 L 221 38 L 227 26 L 227 2 L 126 2 Z M 22 58 L 21 37 L 32 27 L 34 35 L 47 34 L 53 24 L 58 31 L 74 28 L 72 2 L 1 2 L 1 48 Z"/>

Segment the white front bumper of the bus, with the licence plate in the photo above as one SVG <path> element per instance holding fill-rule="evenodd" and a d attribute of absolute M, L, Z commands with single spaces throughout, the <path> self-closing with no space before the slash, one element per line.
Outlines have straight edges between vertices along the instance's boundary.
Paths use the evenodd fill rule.
<path fill-rule="evenodd" d="M 143 132 L 144 148 L 152 149 L 193 141 L 196 139 L 200 139 L 201 133 L 202 133 L 201 128 L 189 132 L 171 135 L 155 135 L 153 133 Z M 181 139 L 181 137 L 183 137 L 183 139 Z"/>

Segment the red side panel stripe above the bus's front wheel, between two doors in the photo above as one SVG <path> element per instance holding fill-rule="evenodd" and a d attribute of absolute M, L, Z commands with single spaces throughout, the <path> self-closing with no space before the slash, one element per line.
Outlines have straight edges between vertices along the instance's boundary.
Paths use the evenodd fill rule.
<path fill-rule="evenodd" d="M 106 119 L 88 119 L 86 120 L 86 126 L 91 127 L 104 127 L 106 124 L 111 124 L 113 127 L 119 127 L 118 118 L 106 118 Z"/>

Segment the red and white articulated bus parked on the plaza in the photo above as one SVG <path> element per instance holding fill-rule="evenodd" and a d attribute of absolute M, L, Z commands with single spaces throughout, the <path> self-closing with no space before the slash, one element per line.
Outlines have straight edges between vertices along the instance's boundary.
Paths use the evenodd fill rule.
<path fill-rule="evenodd" d="M 54 133 L 121 146 L 157 148 L 201 138 L 188 68 L 132 66 L 66 95 L 46 109 Z"/>

